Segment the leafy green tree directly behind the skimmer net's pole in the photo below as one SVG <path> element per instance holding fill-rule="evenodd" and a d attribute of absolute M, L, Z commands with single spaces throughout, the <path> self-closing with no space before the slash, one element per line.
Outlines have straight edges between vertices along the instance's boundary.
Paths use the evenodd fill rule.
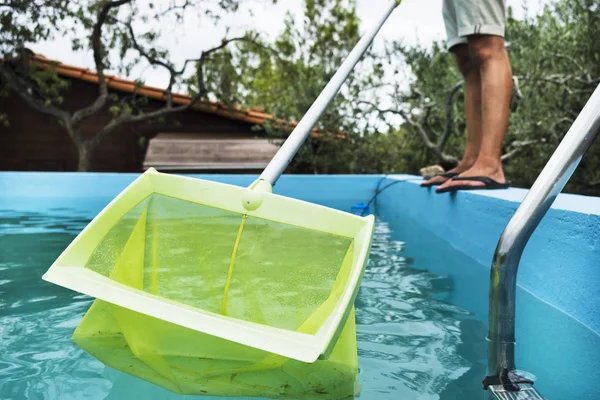
<path fill-rule="evenodd" d="M 213 57 L 207 78 L 211 91 L 226 103 L 263 107 L 277 117 L 265 130 L 273 137 L 285 136 L 289 121 L 302 118 L 359 41 L 359 25 L 354 0 L 307 0 L 303 18 L 288 14 L 283 32 L 268 44 L 274 52 L 256 52 L 238 43 Z M 320 136 L 301 147 L 291 172 L 362 168 L 356 148 L 375 129 L 357 114 L 358 100 L 369 98 L 383 76 L 382 65 L 375 61 L 371 49 L 319 120 Z"/>

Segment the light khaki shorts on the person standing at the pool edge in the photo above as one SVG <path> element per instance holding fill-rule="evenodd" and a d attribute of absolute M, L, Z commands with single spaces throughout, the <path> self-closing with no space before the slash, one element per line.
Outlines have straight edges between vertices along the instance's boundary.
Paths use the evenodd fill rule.
<path fill-rule="evenodd" d="M 505 0 L 444 0 L 448 49 L 467 43 L 469 35 L 504 37 Z"/>

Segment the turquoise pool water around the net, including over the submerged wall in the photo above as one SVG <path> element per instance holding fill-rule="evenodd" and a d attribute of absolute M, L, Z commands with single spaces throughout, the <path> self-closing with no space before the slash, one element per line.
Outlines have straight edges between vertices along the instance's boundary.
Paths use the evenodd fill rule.
<path fill-rule="evenodd" d="M 0 210 L 0 399 L 191 398 L 105 367 L 71 341 L 92 299 L 41 276 L 93 215 Z M 482 399 L 487 289 L 485 266 L 415 221 L 378 215 L 356 301 L 360 398 Z M 562 383 L 536 371 L 549 400 L 595 398 L 600 361 L 584 350 L 599 349 L 600 337 L 523 291 L 519 298 L 536 310 L 532 324 L 551 320 L 555 336 L 579 338 L 543 336 L 563 351 L 532 351 L 520 367 L 560 363 Z"/>

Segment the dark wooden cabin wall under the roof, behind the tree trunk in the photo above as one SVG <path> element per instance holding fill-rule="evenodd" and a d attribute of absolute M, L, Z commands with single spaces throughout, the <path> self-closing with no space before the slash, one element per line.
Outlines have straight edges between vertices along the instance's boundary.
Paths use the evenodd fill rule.
<path fill-rule="evenodd" d="M 71 80 L 62 108 L 76 110 L 90 104 L 98 86 Z M 122 94 L 120 94 L 122 95 Z M 151 100 L 149 108 L 163 104 Z M 77 149 L 58 120 L 30 108 L 15 93 L 0 97 L 0 112 L 7 114 L 8 128 L 0 125 L 0 171 L 74 171 Z M 81 126 L 93 135 L 110 121 L 108 109 L 87 119 Z M 124 125 L 113 131 L 96 151 L 95 171 L 139 172 L 148 140 L 159 132 L 193 132 L 205 138 L 251 138 L 252 124 L 200 111 L 174 114 L 161 124 Z"/>

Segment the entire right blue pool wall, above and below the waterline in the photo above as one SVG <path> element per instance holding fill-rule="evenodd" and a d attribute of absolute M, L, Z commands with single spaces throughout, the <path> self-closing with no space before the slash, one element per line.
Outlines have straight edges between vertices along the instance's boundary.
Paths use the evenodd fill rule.
<path fill-rule="evenodd" d="M 393 179 L 404 177 L 387 178 Z M 375 210 L 395 235 L 407 240 L 406 254 L 415 254 L 414 267 L 448 276 L 453 290 L 447 300 L 471 311 L 487 330 L 491 260 L 524 194 L 513 189 L 438 195 L 417 183 L 402 182 L 378 196 Z M 520 265 L 517 368 L 535 374 L 536 387 L 547 400 L 597 399 L 600 391 L 598 213 L 598 198 L 561 195 L 532 236 Z M 463 336 L 472 336 L 471 328 L 463 327 Z M 446 388 L 445 392 L 452 392 L 450 397 L 441 393 L 442 400 L 456 398 L 452 397 L 456 393 L 470 398 L 460 392 L 468 386 L 460 381 L 480 383 L 485 374 L 464 351 L 487 342 L 467 337 L 464 340 L 471 340 L 472 346 L 459 352 L 473 362 L 473 368 Z"/>

